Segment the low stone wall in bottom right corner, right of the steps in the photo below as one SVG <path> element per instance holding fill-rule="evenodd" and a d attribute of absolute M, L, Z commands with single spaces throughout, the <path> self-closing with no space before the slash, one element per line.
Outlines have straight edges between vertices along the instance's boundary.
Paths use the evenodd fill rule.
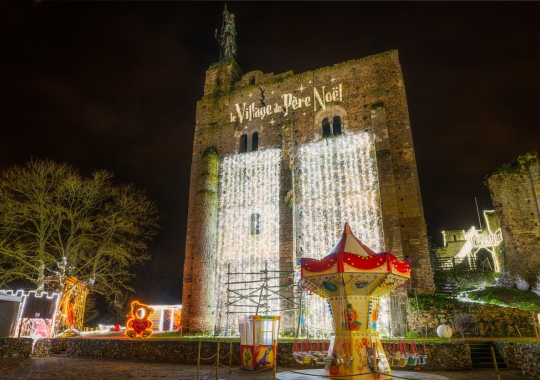
<path fill-rule="evenodd" d="M 540 379 L 540 345 L 535 343 L 495 342 L 508 368 L 520 369 L 527 377 Z"/>

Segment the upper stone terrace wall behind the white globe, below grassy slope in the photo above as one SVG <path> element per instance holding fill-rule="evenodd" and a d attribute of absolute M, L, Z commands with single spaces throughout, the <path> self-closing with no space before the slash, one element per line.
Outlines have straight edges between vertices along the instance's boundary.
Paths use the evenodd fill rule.
<path fill-rule="evenodd" d="M 446 324 L 454 330 L 454 337 L 461 333 L 453 327 L 454 316 L 459 313 L 472 314 L 480 326 L 484 337 L 519 337 L 516 325 L 523 336 L 534 336 L 534 325 L 530 311 L 512 309 L 496 305 L 479 303 L 452 303 L 446 306 L 434 305 L 419 312 L 414 301 L 409 301 L 411 313 L 409 315 L 410 330 L 428 336 L 437 335 L 437 327 Z"/>

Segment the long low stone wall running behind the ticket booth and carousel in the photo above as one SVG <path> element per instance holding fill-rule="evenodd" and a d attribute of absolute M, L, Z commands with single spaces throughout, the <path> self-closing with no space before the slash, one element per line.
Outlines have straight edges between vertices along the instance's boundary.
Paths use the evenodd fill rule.
<path fill-rule="evenodd" d="M 152 362 L 174 362 L 197 364 L 199 342 L 193 341 L 133 341 L 125 339 L 81 339 L 70 338 L 67 344 L 67 355 L 77 358 L 121 359 Z M 232 344 L 232 366 L 240 365 L 240 344 Z M 210 358 L 217 350 L 217 342 L 201 342 L 201 357 Z M 229 364 L 230 342 L 220 343 L 220 362 Z M 423 353 L 422 345 L 418 351 Z M 472 367 L 469 346 L 463 342 L 426 344 L 428 354 L 426 370 L 467 369 Z M 201 361 L 210 364 L 214 358 Z M 292 356 L 292 343 L 280 343 L 278 347 L 278 366 L 301 367 Z M 412 366 L 410 366 L 412 368 Z"/>

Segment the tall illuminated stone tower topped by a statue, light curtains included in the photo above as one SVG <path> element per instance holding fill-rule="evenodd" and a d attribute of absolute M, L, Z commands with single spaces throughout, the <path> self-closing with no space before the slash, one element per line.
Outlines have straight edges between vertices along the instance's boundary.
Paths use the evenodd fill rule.
<path fill-rule="evenodd" d="M 224 12 L 224 28 L 227 17 Z M 230 45 L 225 37 L 220 39 L 222 56 L 224 44 Z M 289 273 L 298 258 L 328 253 L 345 222 L 374 251 L 408 257 L 413 287 L 431 294 L 397 51 L 296 75 L 243 74 L 235 53 L 236 45 L 234 54 L 225 53 L 208 69 L 197 103 L 184 328 L 227 328 L 231 320 L 226 319 L 232 317 L 226 304 L 233 298 L 227 299 L 229 273 Z M 235 278 L 249 289 L 249 276 Z M 291 292 L 292 278 L 274 277 L 270 289 Z M 281 314 L 283 328 L 292 330 L 298 311 L 280 312 L 290 303 L 272 294 L 265 290 L 266 310 Z M 307 302 L 312 304 L 306 323 L 329 322 L 325 305 Z"/>

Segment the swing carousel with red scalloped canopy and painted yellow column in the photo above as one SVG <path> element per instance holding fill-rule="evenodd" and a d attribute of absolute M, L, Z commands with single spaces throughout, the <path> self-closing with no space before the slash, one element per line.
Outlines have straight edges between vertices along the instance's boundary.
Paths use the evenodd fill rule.
<path fill-rule="evenodd" d="M 411 278 L 409 260 L 389 252 L 375 253 L 345 223 L 337 244 L 320 260 L 300 259 L 300 287 L 327 300 L 335 335 L 325 360 L 327 376 L 352 376 L 392 371 L 377 331 L 382 297 Z"/>

